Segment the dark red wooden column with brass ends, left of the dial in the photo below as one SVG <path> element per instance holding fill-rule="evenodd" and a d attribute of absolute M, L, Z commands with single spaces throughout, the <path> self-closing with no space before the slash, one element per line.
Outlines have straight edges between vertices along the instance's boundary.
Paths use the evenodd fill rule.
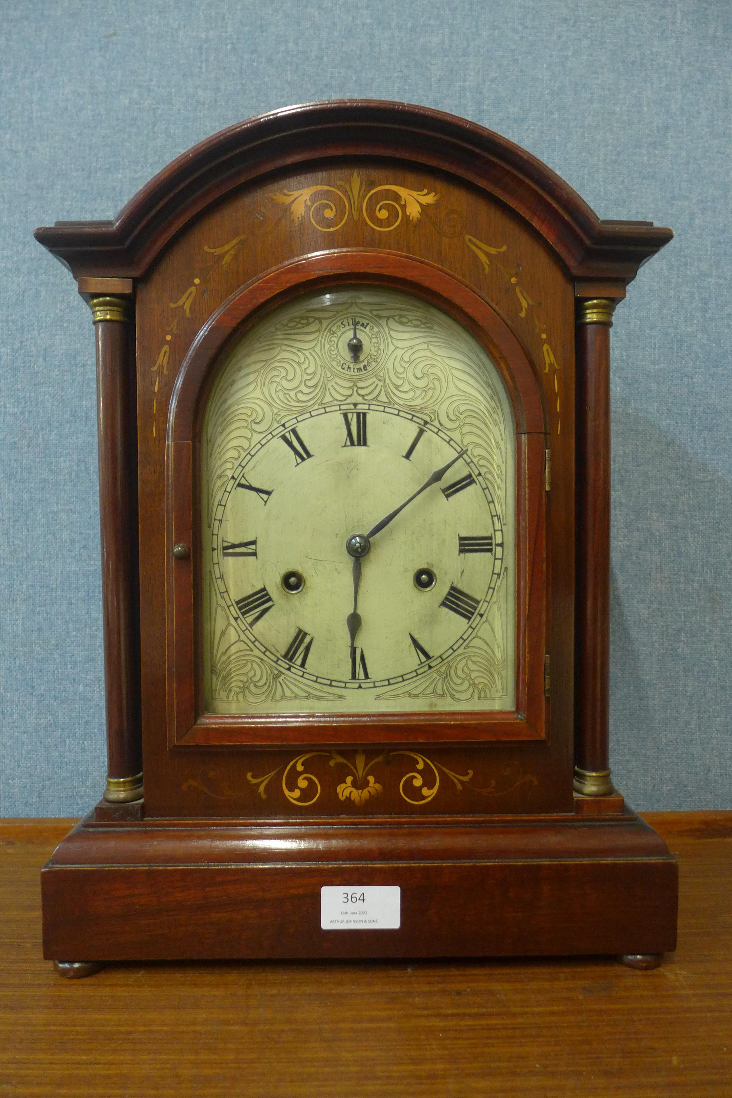
<path fill-rule="evenodd" d="M 97 332 L 108 758 L 104 799 L 122 803 L 143 796 L 137 640 L 136 380 L 131 354 L 134 310 L 132 294 L 89 294 L 88 301 Z"/>

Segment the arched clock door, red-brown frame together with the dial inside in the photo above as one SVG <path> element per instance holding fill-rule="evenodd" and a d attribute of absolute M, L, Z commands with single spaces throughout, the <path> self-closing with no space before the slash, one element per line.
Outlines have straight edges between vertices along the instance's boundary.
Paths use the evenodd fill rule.
<path fill-rule="evenodd" d="M 252 780 L 266 749 L 263 774 L 285 748 L 283 769 L 367 746 L 419 748 L 425 766 L 428 744 L 468 778 L 458 746 L 485 760 L 492 744 L 504 786 L 533 783 L 516 744 L 545 754 L 550 727 L 534 371 L 443 272 L 374 254 L 333 268 L 315 257 L 245 288 L 182 365 L 169 743 L 191 763 L 215 748 L 218 766 L 230 749 L 227 774 L 248 760 Z M 187 788 L 213 788 L 218 766 Z"/>

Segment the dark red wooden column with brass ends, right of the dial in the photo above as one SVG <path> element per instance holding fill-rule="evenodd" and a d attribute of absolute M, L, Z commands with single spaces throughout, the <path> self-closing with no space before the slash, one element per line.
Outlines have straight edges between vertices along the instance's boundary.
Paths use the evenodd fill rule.
<path fill-rule="evenodd" d="M 577 615 L 575 793 L 610 781 L 610 328 L 617 302 L 577 307 Z"/>

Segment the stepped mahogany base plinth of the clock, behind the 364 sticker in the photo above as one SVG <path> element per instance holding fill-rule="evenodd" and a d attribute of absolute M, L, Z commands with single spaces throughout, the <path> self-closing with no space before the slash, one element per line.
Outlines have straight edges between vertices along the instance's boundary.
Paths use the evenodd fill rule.
<path fill-rule="evenodd" d="M 324 885 L 398 885 L 399 929 L 322 930 Z M 90 814 L 44 866 L 42 892 L 49 960 L 624 960 L 676 945 L 676 862 L 629 810 L 312 824 Z"/>

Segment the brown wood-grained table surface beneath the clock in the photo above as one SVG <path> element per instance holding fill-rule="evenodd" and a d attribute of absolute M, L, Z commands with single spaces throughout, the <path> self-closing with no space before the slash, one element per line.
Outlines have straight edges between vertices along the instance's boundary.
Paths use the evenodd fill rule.
<path fill-rule="evenodd" d="M 38 873 L 71 820 L 0 820 L 0 1095 L 732 1096 L 732 813 L 645 817 L 679 946 L 611 959 L 115 964 L 41 956 Z"/>

